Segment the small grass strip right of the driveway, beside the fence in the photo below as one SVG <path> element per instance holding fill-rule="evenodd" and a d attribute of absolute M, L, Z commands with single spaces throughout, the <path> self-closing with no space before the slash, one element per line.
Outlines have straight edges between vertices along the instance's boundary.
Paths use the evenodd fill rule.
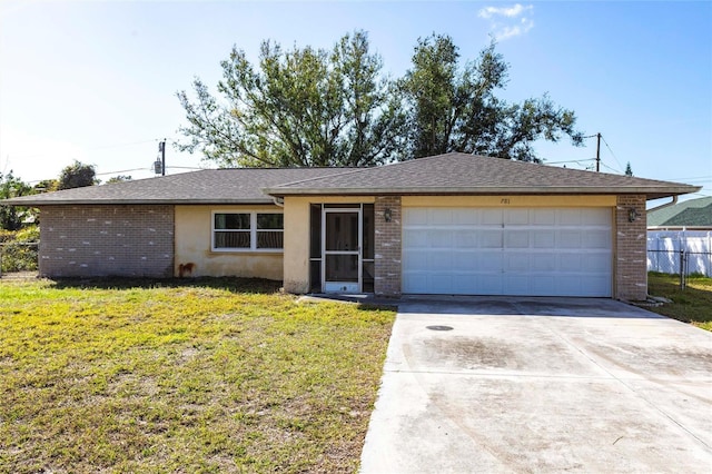
<path fill-rule="evenodd" d="M 672 303 L 650 308 L 652 312 L 712 330 L 712 278 L 690 277 L 686 288 L 680 289 L 678 275 L 651 271 L 647 274 L 647 293 L 672 299 Z"/>

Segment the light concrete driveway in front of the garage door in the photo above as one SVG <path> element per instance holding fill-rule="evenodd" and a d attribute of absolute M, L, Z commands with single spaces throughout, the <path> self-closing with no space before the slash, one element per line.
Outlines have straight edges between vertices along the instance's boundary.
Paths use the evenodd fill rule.
<path fill-rule="evenodd" d="M 563 471 L 712 472 L 712 334 L 607 299 L 404 299 L 362 472 Z"/>

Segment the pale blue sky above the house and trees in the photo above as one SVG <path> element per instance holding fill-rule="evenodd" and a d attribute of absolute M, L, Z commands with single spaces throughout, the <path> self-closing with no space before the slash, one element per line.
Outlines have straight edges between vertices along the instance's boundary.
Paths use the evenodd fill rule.
<path fill-rule="evenodd" d="M 154 176 L 157 140 L 179 138 L 176 91 L 209 86 L 233 45 L 330 48 L 363 29 L 400 76 L 418 37 L 453 37 L 464 59 L 498 38 L 502 97 L 548 92 L 602 170 L 703 186 L 712 196 L 712 2 L 14 1 L 0 3 L 0 172 L 55 178 L 75 159 L 101 179 Z M 538 144 L 553 166 L 592 166 L 585 148 Z M 168 172 L 212 167 L 167 152 Z"/>

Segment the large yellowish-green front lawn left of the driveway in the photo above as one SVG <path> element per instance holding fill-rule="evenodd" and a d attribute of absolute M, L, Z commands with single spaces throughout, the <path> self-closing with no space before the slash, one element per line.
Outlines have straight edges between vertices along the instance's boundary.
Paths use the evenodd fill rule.
<path fill-rule="evenodd" d="M 354 472 L 393 319 L 258 280 L 0 282 L 0 472 Z"/>

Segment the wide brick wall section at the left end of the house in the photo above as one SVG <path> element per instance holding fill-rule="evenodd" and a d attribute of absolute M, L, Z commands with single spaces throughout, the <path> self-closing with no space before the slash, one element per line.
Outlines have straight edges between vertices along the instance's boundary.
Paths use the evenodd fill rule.
<path fill-rule="evenodd" d="M 42 207 L 39 267 L 47 277 L 170 277 L 174 207 Z"/>

